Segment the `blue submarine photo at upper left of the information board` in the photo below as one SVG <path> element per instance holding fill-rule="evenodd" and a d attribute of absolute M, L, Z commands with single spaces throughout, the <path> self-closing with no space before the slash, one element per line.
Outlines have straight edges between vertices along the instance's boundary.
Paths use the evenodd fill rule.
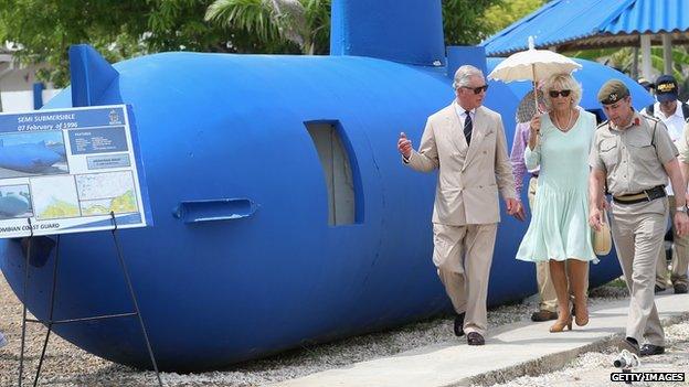
<path fill-rule="evenodd" d="M 70 173 L 62 130 L 0 133 L 0 179 Z"/>

